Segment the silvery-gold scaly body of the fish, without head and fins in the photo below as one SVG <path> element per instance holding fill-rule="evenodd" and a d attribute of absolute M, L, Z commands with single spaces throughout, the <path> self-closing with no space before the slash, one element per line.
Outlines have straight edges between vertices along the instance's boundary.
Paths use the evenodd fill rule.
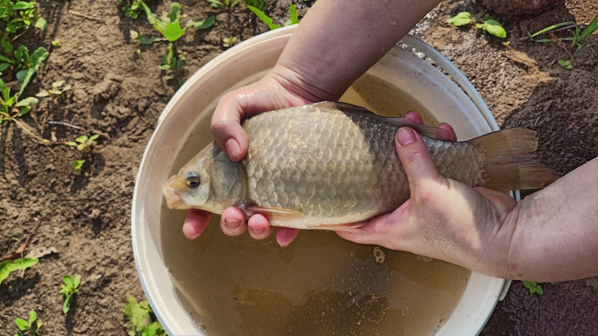
<path fill-rule="evenodd" d="M 284 226 L 304 227 L 363 221 L 408 199 L 394 142 L 398 127 L 373 114 L 311 108 L 265 112 L 243 124 L 248 203 L 301 212 L 305 218 Z M 482 181 L 483 157 L 474 145 L 423 139 L 443 176 Z"/>

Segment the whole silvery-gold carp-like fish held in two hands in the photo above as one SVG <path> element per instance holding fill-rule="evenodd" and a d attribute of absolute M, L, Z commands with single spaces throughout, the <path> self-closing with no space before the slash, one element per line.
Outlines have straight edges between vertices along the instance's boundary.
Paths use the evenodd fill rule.
<path fill-rule="evenodd" d="M 243 121 L 248 152 L 237 162 L 213 141 L 163 186 L 170 209 L 222 214 L 239 207 L 277 227 L 354 230 L 410 197 L 396 154 L 400 127 L 416 130 L 445 178 L 493 190 L 542 188 L 557 174 L 534 159 L 533 130 L 513 128 L 449 142 L 444 129 L 319 102 Z"/>

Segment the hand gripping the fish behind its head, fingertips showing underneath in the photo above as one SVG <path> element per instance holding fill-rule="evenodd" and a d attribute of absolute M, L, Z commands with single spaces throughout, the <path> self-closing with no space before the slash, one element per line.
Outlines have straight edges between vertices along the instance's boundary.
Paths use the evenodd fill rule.
<path fill-rule="evenodd" d="M 247 154 L 247 136 L 241 127 L 241 121 L 260 112 L 304 105 L 324 100 L 311 85 L 303 83 L 301 78 L 290 69 L 276 66 L 260 81 L 231 91 L 218 102 L 212 116 L 212 134 L 222 150 L 233 161 L 239 161 Z M 183 224 L 183 233 L 188 239 L 199 237 L 210 219 L 210 213 L 191 209 Z M 249 226 L 249 234 L 255 239 L 264 239 L 272 232 L 272 227 L 263 215 L 254 215 L 249 221 L 237 207 L 229 207 L 222 213 L 220 220 L 222 231 L 228 236 L 238 236 Z M 288 245 L 297 236 L 298 229 L 279 228 L 277 242 Z"/>

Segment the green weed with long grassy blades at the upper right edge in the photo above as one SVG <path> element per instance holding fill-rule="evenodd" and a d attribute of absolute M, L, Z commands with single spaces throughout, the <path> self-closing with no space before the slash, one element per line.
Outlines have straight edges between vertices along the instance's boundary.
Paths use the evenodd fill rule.
<path fill-rule="evenodd" d="M 552 35 L 551 38 L 533 39 L 536 36 L 541 35 L 543 33 L 547 33 L 547 32 L 550 32 L 551 30 L 561 28 L 563 26 L 570 26 L 570 25 L 575 25 L 575 30 L 573 30 L 573 31 L 569 30 L 573 34 L 572 37 L 557 38 L 556 36 Z M 562 29 L 565 29 L 565 28 L 562 28 Z M 581 51 L 581 46 L 582 46 L 581 41 L 584 38 L 587 38 L 588 36 L 590 36 L 596 30 L 598 30 L 598 15 L 596 17 L 594 17 L 594 20 L 592 20 L 592 22 L 590 22 L 590 25 L 587 25 L 584 28 L 584 30 L 581 30 L 579 28 L 579 25 L 577 25 L 575 22 L 568 21 L 568 22 L 561 22 L 561 23 L 557 23 L 556 25 L 548 26 L 547 28 L 544 28 L 534 34 L 531 34 L 529 32 L 527 32 L 527 33 L 529 34 L 529 37 L 532 39 L 532 41 L 556 42 L 557 44 L 559 44 L 570 56 L 569 60 L 559 60 L 559 65 L 565 69 L 573 69 L 573 61 L 575 59 L 575 56 L 579 53 L 579 51 Z M 565 46 L 565 43 L 563 41 L 571 41 L 571 48 L 573 50 L 573 53 L 571 53 L 571 51 Z"/>

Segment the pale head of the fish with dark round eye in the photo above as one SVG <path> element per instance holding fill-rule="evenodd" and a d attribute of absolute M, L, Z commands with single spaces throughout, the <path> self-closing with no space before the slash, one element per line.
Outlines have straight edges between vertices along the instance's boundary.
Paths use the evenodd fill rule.
<path fill-rule="evenodd" d="M 162 187 L 170 209 L 222 213 L 245 200 L 245 170 L 212 142 Z"/>

